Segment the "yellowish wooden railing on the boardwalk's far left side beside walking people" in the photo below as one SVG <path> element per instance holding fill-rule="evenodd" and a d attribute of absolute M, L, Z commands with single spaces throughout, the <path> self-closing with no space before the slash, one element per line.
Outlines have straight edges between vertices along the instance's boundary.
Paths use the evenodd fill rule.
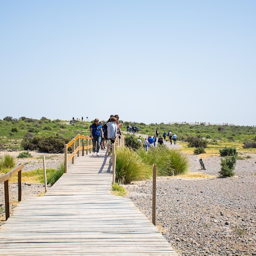
<path fill-rule="evenodd" d="M 71 146 L 72 146 L 72 153 L 68 156 L 68 148 Z M 65 171 L 64 172 L 65 173 L 68 172 L 68 162 L 72 159 L 72 164 L 74 164 L 75 155 L 77 154 L 77 156 L 79 157 L 81 150 L 82 150 L 82 155 L 84 155 L 85 150 L 86 150 L 86 155 L 88 155 L 88 152 L 90 153 L 92 152 L 92 139 L 90 136 L 77 134 L 77 136 L 73 138 L 73 140 L 68 142 L 68 144 L 65 144 L 64 146 L 64 154 L 65 154 L 65 160 L 64 160 Z"/>

